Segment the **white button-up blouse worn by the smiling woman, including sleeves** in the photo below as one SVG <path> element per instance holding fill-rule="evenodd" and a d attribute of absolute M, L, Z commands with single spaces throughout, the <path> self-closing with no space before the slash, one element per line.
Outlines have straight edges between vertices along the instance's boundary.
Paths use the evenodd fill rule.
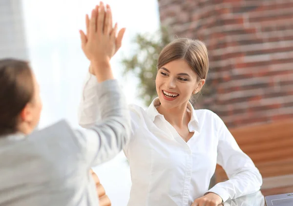
<path fill-rule="evenodd" d="M 99 119 L 94 78 L 88 76 L 79 108 L 79 123 L 84 127 Z M 207 192 L 225 202 L 260 189 L 258 169 L 215 113 L 195 110 L 188 103 L 188 129 L 194 135 L 186 143 L 157 111 L 158 105 L 158 98 L 146 111 L 130 105 L 132 133 L 124 149 L 132 180 L 128 206 L 190 206 Z M 216 164 L 223 166 L 229 180 L 209 189 Z"/>

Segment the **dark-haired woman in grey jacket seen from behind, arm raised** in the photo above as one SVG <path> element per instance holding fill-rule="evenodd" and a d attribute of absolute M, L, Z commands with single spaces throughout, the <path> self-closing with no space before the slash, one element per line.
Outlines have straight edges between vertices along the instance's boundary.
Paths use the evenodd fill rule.
<path fill-rule="evenodd" d="M 92 62 L 102 120 L 83 131 L 66 121 L 34 131 L 42 101 L 27 62 L 0 60 L 0 206 L 98 206 L 89 170 L 118 154 L 130 130 L 126 100 L 110 59 L 117 51 L 110 11 L 94 9 L 82 39 Z M 82 37 L 84 33 L 81 31 Z"/>

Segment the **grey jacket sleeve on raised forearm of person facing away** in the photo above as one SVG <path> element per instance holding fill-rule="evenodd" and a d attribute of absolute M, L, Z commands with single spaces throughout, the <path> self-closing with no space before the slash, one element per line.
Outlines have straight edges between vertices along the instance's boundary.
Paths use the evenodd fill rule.
<path fill-rule="evenodd" d="M 108 80 L 99 85 L 101 94 L 101 124 L 95 123 L 91 129 L 101 139 L 97 162 L 100 164 L 117 155 L 128 142 L 130 136 L 130 118 L 126 99 L 116 80 Z"/>

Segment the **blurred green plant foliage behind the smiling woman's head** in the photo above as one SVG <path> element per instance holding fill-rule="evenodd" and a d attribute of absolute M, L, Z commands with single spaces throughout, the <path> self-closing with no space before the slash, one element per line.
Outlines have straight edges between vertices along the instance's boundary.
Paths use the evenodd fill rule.
<path fill-rule="evenodd" d="M 157 97 L 155 78 L 157 61 L 163 47 L 171 41 L 166 27 L 153 34 L 137 34 L 133 41 L 133 54 L 122 59 L 123 73 L 139 78 L 139 98 L 148 106 Z"/>

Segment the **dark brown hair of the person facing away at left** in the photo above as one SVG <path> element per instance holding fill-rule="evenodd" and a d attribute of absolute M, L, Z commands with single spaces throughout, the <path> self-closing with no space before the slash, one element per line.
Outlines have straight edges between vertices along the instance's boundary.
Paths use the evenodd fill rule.
<path fill-rule="evenodd" d="M 21 110 L 33 96 L 33 76 L 28 62 L 0 60 L 0 135 L 18 131 Z"/>

